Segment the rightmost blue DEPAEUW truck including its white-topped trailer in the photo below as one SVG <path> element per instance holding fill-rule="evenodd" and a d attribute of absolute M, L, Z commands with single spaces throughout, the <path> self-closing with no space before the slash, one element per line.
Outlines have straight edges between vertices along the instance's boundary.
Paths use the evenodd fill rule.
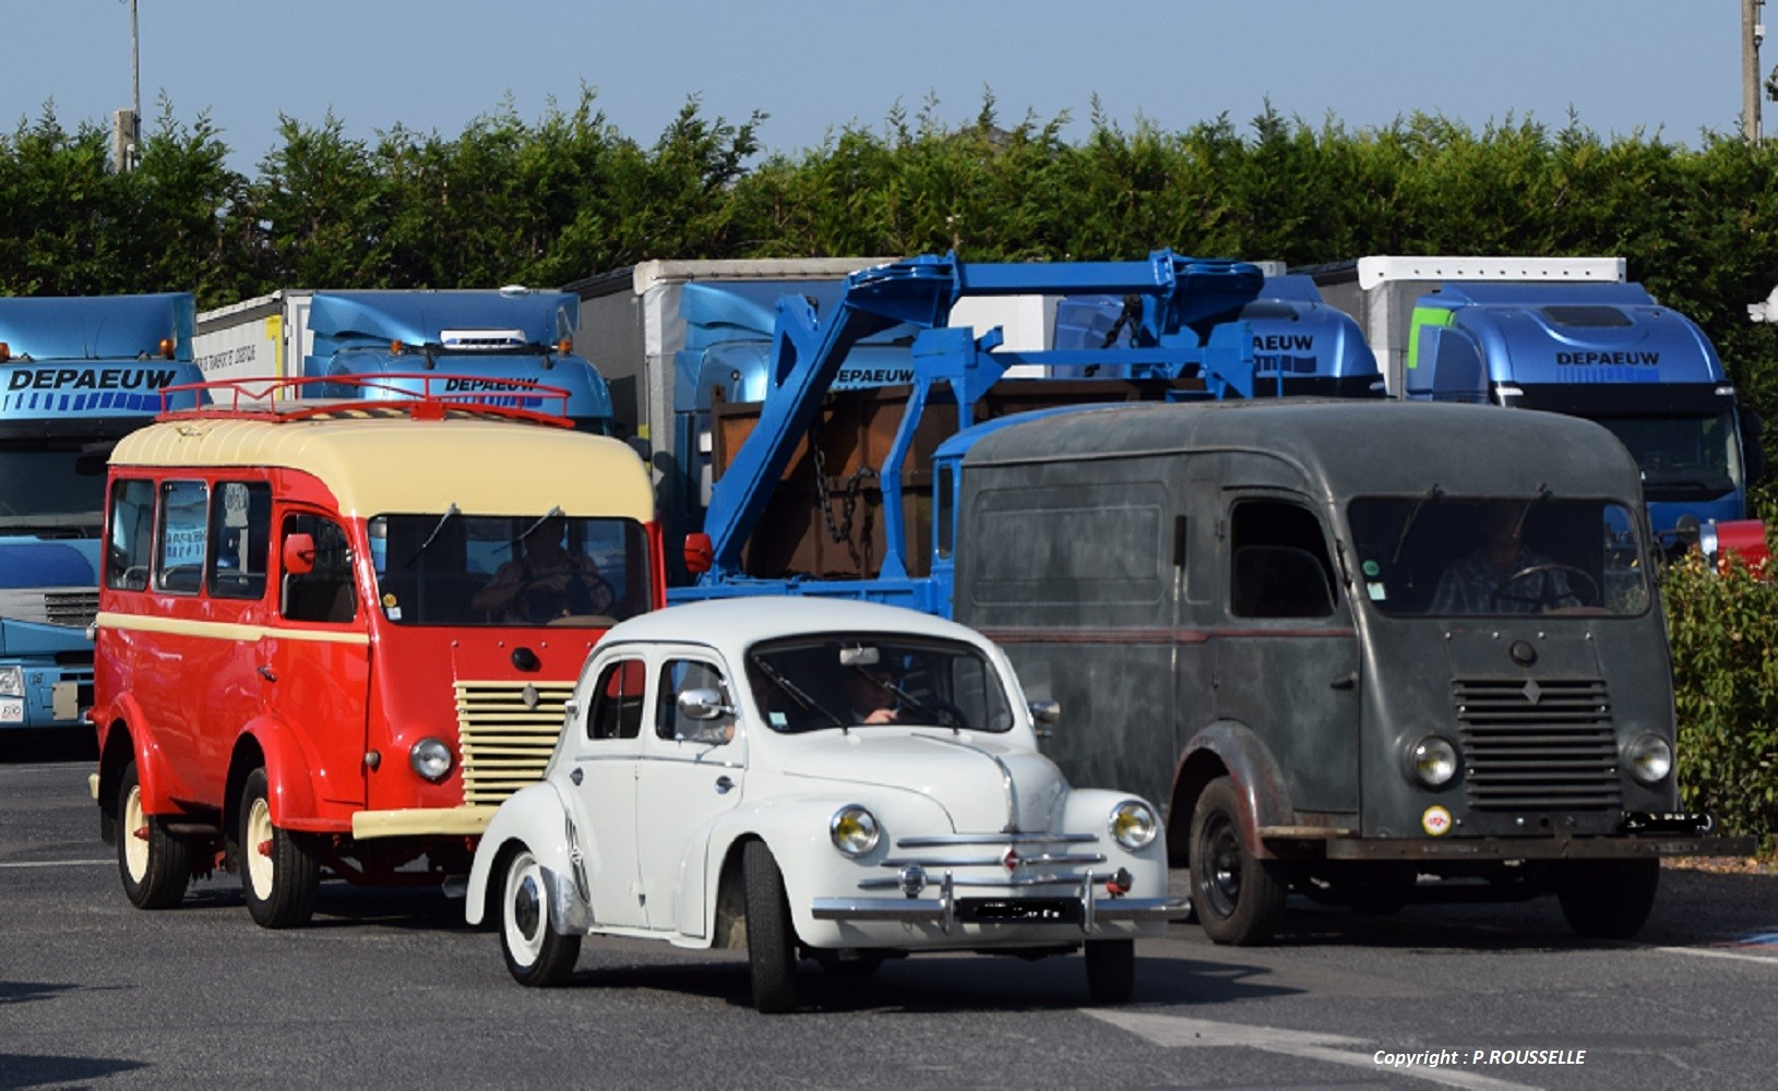
<path fill-rule="evenodd" d="M 1376 350 L 1390 396 L 1542 409 L 1609 428 L 1668 551 L 1764 553 L 1758 418 L 1696 322 L 1622 258 L 1394 258 L 1303 270 Z"/>

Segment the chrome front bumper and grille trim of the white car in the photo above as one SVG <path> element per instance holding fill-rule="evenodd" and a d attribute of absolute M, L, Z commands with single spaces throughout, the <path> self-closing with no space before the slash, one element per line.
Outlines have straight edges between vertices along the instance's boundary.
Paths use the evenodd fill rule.
<path fill-rule="evenodd" d="M 898 897 L 816 897 L 809 908 L 816 920 L 937 924 L 944 933 L 958 924 L 1072 924 L 1092 933 L 1099 922 L 1165 922 L 1186 912 L 1181 897 L 1127 897 L 1134 885 L 1129 869 L 1109 865 L 1099 851 L 1070 848 L 1092 842 L 1092 833 L 905 837 L 896 848 L 914 855 L 885 858 L 880 867 L 894 874 L 859 883 L 861 890 L 898 890 Z M 932 888 L 937 897 L 923 897 Z"/>

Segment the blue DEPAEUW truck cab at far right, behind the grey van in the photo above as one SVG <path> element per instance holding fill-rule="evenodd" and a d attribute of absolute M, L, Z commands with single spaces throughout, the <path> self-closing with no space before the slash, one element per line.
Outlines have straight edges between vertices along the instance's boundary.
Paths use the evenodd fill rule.
<path fill-rule="evenodd" d="M 1451 283 L 1415 300 L 1408 398 L 1581 416 L 1643 474 L 1661 540 L 1746 519 L 1762 471 L 1758 421 L 1698 323 L 1641 284 Z"/>

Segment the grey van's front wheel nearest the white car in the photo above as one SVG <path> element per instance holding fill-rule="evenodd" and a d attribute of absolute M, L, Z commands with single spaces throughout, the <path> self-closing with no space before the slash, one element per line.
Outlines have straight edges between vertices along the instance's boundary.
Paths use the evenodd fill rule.
<path fill-rule="evenodd" d="M 1241 844 L 1241 796 L 1218 776 L 1191 812 L 1191 906 L 1218 944 L 1264 944 L 1284 917 L 1284 865 Z"/>

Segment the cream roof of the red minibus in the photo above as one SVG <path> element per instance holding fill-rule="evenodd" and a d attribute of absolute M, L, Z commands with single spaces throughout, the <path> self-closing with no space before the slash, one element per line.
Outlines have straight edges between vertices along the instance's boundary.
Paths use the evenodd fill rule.
<path fill-rule="evenodd" d="M 654 517 L 647 469 L 624 442 L 489 418 L 176 418 L 126 435 L 110 464 L 299 469 L 364 519 L 453 503 L 469 515 Z"/>

